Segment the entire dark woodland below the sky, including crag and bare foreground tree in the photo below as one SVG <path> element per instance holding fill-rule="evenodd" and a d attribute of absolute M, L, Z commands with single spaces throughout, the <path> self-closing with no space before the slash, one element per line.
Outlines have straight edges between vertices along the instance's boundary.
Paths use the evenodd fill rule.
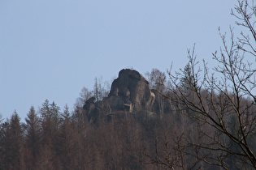
<path fill-rule="evenodd" d="M 45 100 L 25 122 L 0 117 L 0 169 L 255 169 L 255 9 L 237 1 L 232 15 L 249 33 L 220 32 L 212 70 L 193 47 L 176 72 L 120 70 L 72 109 Z"/>

